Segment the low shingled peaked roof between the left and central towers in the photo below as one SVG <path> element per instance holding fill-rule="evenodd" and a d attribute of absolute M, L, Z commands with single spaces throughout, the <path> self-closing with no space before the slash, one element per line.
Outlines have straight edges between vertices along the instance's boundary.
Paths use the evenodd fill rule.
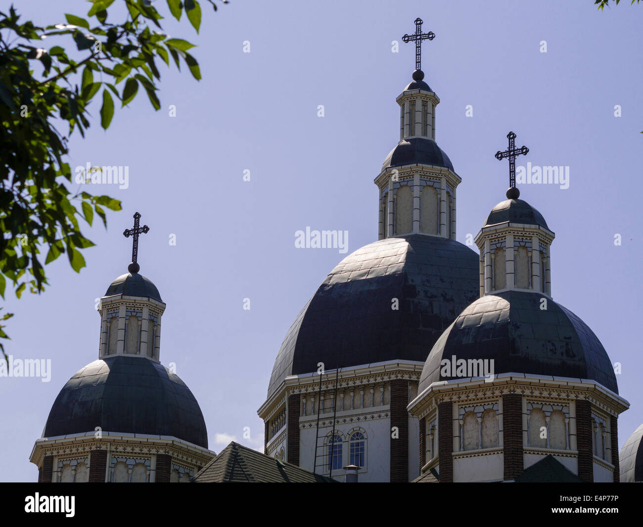
<path fill-rule="evenodd" d="M 194 478 L 195 483 L 337 483 L 232 441 Z"/>

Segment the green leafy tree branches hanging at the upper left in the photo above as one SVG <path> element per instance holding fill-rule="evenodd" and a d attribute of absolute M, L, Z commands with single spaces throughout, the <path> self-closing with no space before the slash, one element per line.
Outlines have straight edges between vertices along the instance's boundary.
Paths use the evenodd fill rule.
<path fill-rule="evenodd" d="M 3 298 L 7 279 L 18 298 L 27 287 L 32 293 L 44 291 L 48 284 L 44 265 L 63 253 L 79 272 L 85 266 L 82 250 L 94 245 L 82 234 L 79 219 L 91 227 L 96 214 L 107 227 L 105 209 L 121 209 L 120 201 L 109 196 L 69 190 L 75 183 L 64 160 L 69 136 L 75 132 L 85 135 L 90 125 L 87 107 L 98 92 L 102 90 L 100 125 L 107 129 L 114 116 L 114 99 L 125 106 L 139 88 L 154 109 L 161 107 L 156 93 L 161 78 L 159 60 L 169 66 L 171 56 L 179 69 L 183 60 L 192 76 L 201 79 L 199 64 L 188 53 L 193 44 L 165 35 L 163 17 L 149 0 L 122 1 L 128 12 L 122 23 L 107 21 L 114 0 L 90 0 L 86 17 L 66 14 L 66 24 L 46 27 L 21 21 L 14 6 L 8 14 L 0 12 Z M 214 0 L 207 1 L 217 9 Z M 185 11 L 199 31 L 201 6 L 196 0 L 185 0 L 185 4 L 167 0 L 167 6 L 177 20 Z M 48 50 L 41 47 L 51 41 L 56 45 Z M 69 53 L 65 43 L 71 44 Z M 60 131 L 61 124 L 68 125 L 65 132 Z M 44 264 L 42 252 L 46 252 Z M 11 316 L 7 313 L 0 321 Z M 0 338 L 8 338 L 3 328 L 0 324 Z M 5 353 L 1 343 L 0 349 Z"/>

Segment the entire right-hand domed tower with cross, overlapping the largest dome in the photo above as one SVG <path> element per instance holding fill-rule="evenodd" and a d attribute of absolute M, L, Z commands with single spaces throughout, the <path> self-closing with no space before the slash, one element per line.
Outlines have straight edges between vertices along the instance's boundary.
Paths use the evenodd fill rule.
<path fill-rule="evenodd" d="M 554 233 L 518 199 L 514 158 L 529 149 L 507 137 L 496 154 L 510 160 L 507 200 L 475 238 L 480 298 L 431 348 L 407 407 L 420 418 L 421 478 L 619 481 L 617 419 L 629 403 L 592 329 L 551 298 Z"/>

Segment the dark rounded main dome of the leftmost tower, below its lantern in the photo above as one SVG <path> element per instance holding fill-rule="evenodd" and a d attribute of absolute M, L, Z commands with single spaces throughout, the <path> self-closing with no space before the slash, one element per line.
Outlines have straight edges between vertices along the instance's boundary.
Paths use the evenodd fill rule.
<path fill-rule="evenodd" d="M 208 448 L 199 403 L 163 365 L 140 356 L 116 355 L 80 369 L 60 390 L 44 437 L 81 432 L 174 436 Z"/>

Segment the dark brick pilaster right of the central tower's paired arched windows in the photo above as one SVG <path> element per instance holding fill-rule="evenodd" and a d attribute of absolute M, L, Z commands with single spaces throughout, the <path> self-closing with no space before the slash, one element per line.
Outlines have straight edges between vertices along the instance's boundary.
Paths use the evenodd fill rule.
<path fill-rule="evenodd" d="M 408 482 L 408 380 L 391 381 L 391 427 L 397 427 L 397 439 L 391 438 L 390 481 Z"/>

